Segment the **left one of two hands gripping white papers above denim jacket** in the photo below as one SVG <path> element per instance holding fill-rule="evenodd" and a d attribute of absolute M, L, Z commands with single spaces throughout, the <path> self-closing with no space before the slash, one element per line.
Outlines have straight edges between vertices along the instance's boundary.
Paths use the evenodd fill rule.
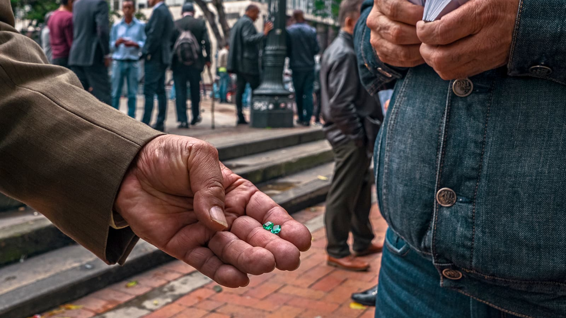
<path fill-rule="evenodd" d="M 371 45 L 381 62 L 398 67 L 424 63 L 415 27 L 423 10 L 407 0 L 375 0 L 366 24 L 371 29 Z"/>

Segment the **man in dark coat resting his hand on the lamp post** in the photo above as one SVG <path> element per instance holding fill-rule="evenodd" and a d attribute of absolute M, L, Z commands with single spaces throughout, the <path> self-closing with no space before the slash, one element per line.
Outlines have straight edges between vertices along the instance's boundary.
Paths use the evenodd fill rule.
<path fill-rule="evenodd" d="M 238 124 L 247 124 L 242 114 L 242 96 L 246 83 L 251 89 L 259 86 L 259 48 L 267 33 L 273 29 L 273 23 L 265 23 L 263 33 L 256 31 L 254 22 L 258 19 L 259 8 L 249 5 L 246 14 L 232 27 L 230 32 L 230 53 L 228 55 L 228 71 L 238 75 L 236 88 L 236 107 Z"/>

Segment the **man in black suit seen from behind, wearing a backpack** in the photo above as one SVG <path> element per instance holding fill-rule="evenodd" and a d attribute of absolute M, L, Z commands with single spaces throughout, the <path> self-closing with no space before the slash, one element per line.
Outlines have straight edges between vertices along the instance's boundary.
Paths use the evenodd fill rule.
<path fill-rule="evenodd" d="M 179 128 L 188 128 L 187 119 L 187 81 L 191 87 L 191 110 L 192 121 L 195 125 L 202 121 L 199 115 L 200 103 L 200 74 L 204 70 L 204 66 L 211 66 L 211 43 L 208 40 L 207 25 L 204 20 L 194 18 L 195 7 L 192 3 L 187 2 L 182 8 L 183 18 L 175 21 L 175 31 L 173 32 L 173 43 L 177 41 L 183 31 L 190 31 L 195 37 L 196 42 L 200 45 L 196 50 L 198 59 L 192 65 L 185 65 L 181 62 L 179 56 L 173 52 L 173 61 L 171 69 L 173 70 L 173 80 L 175 81 L 175 103 L 177 106 L 177 121 Z M 203 49 L 206 57 L 203 55 Z"/>

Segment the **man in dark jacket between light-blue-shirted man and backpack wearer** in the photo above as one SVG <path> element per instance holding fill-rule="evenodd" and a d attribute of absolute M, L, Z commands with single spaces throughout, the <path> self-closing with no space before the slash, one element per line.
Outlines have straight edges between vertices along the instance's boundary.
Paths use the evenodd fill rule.
<path fill-rule="evenodd" d="M 144 59 L 145 108 L 141 122 L 149 124 L 153 111 L 153 97 L 157 94 L 159 112 L 153 128 L 165 130 L 165 115 L 167 114 L 167 97 L 165 96 L 165 70 L 171 64 L 171 36 L 173 36 L 173 16 L 163 0 L 149 0 L 153 7 L 149 22 L 145 25 L 145 45 L 141 51 Z"/>

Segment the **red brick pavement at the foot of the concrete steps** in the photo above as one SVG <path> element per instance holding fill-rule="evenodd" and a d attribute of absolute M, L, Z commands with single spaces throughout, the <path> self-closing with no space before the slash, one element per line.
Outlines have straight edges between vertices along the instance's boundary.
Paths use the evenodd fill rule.
<path fill-rule="evenodd" d="M 220 289 L 194 268 L 173 261 L 67 304 L 67 310 L 45 313 L 43 317 L 372 318 L 373 307 L 350 307 L 350 294 L 378 282 L 381 254 L 365 257 L 371 261 L 368 272 L 329 267 L 325 261 L 323 209 L 316 207 L 293 215 L 319 228 L 312 233 L 312 248 L 302 253 L 301 267 L 294 272 L 276 269 L 250 277 L 247 287 Z M 387 225 L 375 205 L 371 220 L 376 239 L 383 239 Z"/>

